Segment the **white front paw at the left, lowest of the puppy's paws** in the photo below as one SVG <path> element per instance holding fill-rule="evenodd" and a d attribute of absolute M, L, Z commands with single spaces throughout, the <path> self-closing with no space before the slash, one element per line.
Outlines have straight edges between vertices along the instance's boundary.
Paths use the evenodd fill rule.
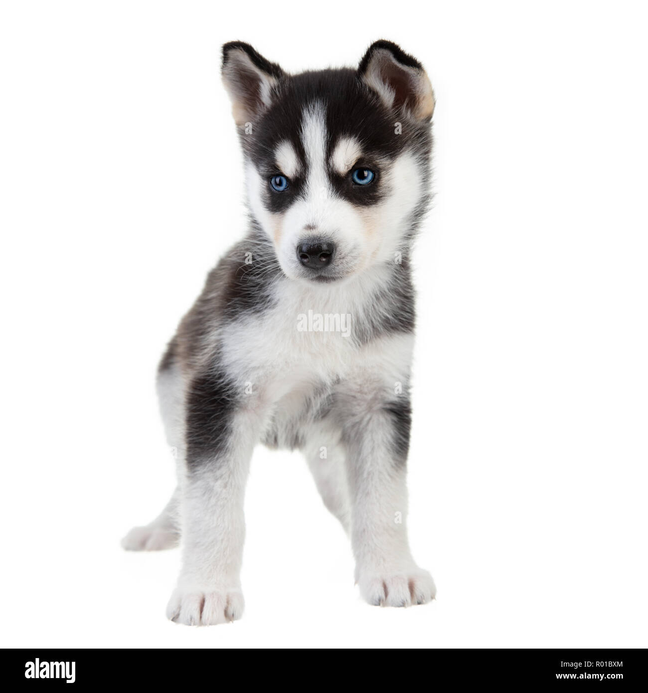
<path fill-rule="evenodd" d="M 167 617 L 186 626 L 215 626 L 243 615 L 245 602 L 240 589 L 185 590 L 177 588 L 167 606 Z"/>

